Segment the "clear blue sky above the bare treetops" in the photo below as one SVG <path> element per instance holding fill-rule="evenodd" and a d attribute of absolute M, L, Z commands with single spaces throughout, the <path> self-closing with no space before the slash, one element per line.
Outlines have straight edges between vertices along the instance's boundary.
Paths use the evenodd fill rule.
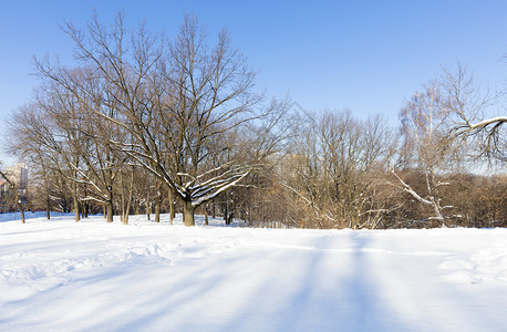
<path fill-rule="evenodd" d="M 93 9 L 112 22 L 146 20 L 174 37 L 185 12 L 210 37 L 223 28 L 267 95 L 303 108 L 382 113 L 393 124 L 411 95 L 461 61 L 482 82 L 507 80 L 507 1 L 27 1 L 0 0 L 0 129 L 38 85 L 32 56 L 72 61 L 64 20 L 84 27 Z"/>

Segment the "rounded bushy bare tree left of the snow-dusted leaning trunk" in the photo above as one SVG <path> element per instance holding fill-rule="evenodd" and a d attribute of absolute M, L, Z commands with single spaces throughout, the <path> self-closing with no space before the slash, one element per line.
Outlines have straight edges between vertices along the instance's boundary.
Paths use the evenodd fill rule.
<path fill-rule="evenodd" d="M 392 157 L 394 137 L 380 116 L 359 121 L 350 112 L 307 115 L 286 158 L 281 184 L 307 207 L 306 227 L 374 227 L 379 175 Z M 310 221 L 311 220 L 311 221 Z"/>

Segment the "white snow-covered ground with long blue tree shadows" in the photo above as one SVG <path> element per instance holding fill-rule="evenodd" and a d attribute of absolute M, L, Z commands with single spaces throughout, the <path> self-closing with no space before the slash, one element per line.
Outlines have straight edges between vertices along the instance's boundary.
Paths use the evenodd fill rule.
<path fill-rule="evenodd" d="M 0 331 L 507 331 L 507 229 L 9 216 Z"/>

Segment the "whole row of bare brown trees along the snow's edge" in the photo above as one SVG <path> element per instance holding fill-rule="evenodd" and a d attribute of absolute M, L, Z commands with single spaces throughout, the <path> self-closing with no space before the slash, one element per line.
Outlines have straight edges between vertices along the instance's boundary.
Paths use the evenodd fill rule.
<path fill-rule="evenodd" d="M 470 172 L 480 156 L 505 165 L 505 118 L 477 120 L 499 95 L 463 68 L 415 93 L 392 128 L 266 101 L 227 31 L 210 45 L 193 17 L 174 41 L 130 32 L 122 15 L 64 31 L 76 62 L 37 59 L 41 85 L 10 126 L 34 209 L 125 224 L 183 212 L 187 226 L 195 212 L 252 227 L 507 226 L 505 173 Z"/>

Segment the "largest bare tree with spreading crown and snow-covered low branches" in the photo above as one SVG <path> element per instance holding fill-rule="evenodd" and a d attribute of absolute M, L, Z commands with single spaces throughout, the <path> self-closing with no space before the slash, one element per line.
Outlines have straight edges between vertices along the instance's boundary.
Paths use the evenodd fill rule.
<path fill-rule="evenodd" d="M 39 73 L 66 90 L 83 110 L 128 132 L 132 142 L 105 138 L 172 190 L 183 203 L 185 225 L 195 224 L 196 207 L 238 185 L 269 154 L 258 149 L 241 162 L 211 166 L 217 155 L 245 154 L 230 137 L 276 111 L 256 111 L 261 97 L 252 93 L 255 73 L 232 49 L 227 31 L 209 48 L 197 19 L 187 15 L 168 52 L 144 27 L 128 43 L 122 14 L 111 30 L 95 15 L 87 33 L 71 23 L 65 32 L 83 65 L 79 71 L 89 80 L 45 61 L 37 62 Z M 99 111 L 95 103 L 115 110 L 118 117 Z"/>

